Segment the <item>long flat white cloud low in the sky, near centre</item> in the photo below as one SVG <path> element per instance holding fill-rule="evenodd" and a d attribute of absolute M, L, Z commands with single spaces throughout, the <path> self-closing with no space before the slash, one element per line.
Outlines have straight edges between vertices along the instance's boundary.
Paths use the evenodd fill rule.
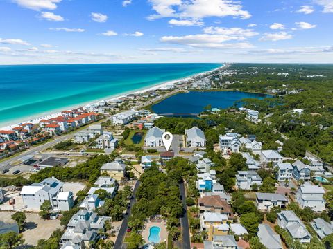
<path fill-rule="evenodd" d="M 185 35 L 185 36 L 164 36 L 161 37 L 161 42 L 170 44 L 181 44 L 197 48 L 251 48 L 252 45 L 247 42 L 225 44 L 224 42 L 231 40 L 239 40 L 239 37 L 230 35 Z"/>

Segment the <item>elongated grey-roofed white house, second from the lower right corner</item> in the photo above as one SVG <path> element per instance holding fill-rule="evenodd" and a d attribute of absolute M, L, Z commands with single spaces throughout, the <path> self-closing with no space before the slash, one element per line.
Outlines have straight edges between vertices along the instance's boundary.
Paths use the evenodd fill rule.
<path fill-rule="evenodd" d="M 286 229 L 293 239 L 297 239 L 300 243 L 309 243 L 311 234 L 305 228 L 295 212 L 284 210 L 278 214 L 278 225 L 282 229 Z"/>

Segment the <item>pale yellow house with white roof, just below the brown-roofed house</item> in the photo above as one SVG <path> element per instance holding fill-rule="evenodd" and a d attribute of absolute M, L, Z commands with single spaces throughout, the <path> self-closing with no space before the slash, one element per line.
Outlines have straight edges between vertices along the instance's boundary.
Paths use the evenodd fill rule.
<path fill-rule="evenodd" d="M 217 212 L 204 212 L 200 215 L 201 230 L 206 231 L 209 241 L 212 241 L 215 235 L 227 235 L 229 225 L 228 216 Z"/>

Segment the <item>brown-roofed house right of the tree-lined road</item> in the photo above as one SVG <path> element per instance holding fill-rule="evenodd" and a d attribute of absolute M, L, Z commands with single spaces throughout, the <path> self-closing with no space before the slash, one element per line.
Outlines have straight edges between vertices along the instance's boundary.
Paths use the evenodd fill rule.
<path fill-rule="evenodd" d="M 232 222 L 234 214 L 227 201 L 221 200 L 219 195 L 201 196 L 198 199 L 198 208 L 200 213 L 216 212 L 219 214 L 225 214 L 228 217 L 228 221 Z"/>

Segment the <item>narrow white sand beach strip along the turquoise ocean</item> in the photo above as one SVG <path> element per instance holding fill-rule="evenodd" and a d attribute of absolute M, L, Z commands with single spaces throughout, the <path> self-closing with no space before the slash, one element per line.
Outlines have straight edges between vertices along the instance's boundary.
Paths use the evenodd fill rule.
<path fill-rule="evenodd" d="M 191 80 L 194 77 L 198 77 L 200 75 L 205 75 L 207 73 L 212 73 L 214 71 L 221 70 L 222 68 L 224 68 L 227 65 L 228 64 L 221 63 L 221 66 L 219 66 L 218 68 L 214 68 L 210 71 L 204 71 L 202 73 L 195 73 L 194 75 L 189 75 L 187 77 L 182 77 L 182 78 L 179 78 L 179 79 L 176 79 L 176 80 L 169 80 L 167 82 L 159 82 L 159 83 L 153 84 L 151 86 L 144 86 L 142 88 L 135 89 L 135 90 L 132 90 L 132 91 L 125 91 L 123 93 L 116 93 L 114 95 L 108 95 L 104 98 L 99 98 L 99 99 L 96 99 L 96 100 L 89 100 L 87 102 L 83 102 L 83 103 L 76 104 L 76 105 L 71 105 L 71 106 L 68 106 L 68 107 L 62 107 L 62 108 L 59 108 L 59 109 L 55 109 L 53 111 L 49 111 L 47 113 L 36 113 L 33 116 L 28 116 L 26 118 L 20 118 L 18 120 L 12 120 L 12 121 L 9 121 L 7 123 L 4 122 L 3 124 L 0 124 L 1 125 L 0 130 L 10 130 L 13 127 L 17 127 L 17 126 L 19 126 L 19 124 L 22 124 L 22 123 L 25 123 L 25 122 L 31 122 L 33 124 L 37 124 L 42 119 L 56 118 L 56 117 L 60 116 L 61 111 L 76 109 L 78 107 L 85 107 L 87 104 L 96 104 L 97 102 L 99 102 L 101 100 L 106 100 L 107 102 L 109 102 L 109 101 L 112 101 L 112 100 L 117 100 L 119 98 L 126 97 L 126 95 L 128 95 L 128 94 L 135 94 L 135 93 L 140 94 L 140 93 L 145 93 L 147 91 L 158 90 L 158 89 L 163 88 L 164 86 L 174 85 L 178 82 Z"/>

